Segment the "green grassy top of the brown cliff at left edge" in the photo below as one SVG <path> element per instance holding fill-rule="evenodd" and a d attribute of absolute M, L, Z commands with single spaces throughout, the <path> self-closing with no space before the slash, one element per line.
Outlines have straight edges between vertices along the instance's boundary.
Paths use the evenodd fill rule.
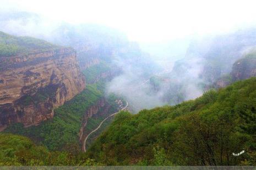
<path fill-rule="evenodd" d="M 47 50 L 57 48 L 51 43 L 32 37 L 16 37 L 0 31 L 0 57 L 26 54 L 31 50 Z"/>

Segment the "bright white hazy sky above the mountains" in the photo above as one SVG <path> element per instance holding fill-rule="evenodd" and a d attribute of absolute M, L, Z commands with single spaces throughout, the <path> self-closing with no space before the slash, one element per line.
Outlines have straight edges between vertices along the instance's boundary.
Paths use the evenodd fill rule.
<path fill-rule="evenodd" d="M 15 8 L 53 20 L 107 25 L 139 42 L 220 33 L 254 25 L 255 7 L 255 1 L 246 0 L 0 0 L 1 10 Z"/>

